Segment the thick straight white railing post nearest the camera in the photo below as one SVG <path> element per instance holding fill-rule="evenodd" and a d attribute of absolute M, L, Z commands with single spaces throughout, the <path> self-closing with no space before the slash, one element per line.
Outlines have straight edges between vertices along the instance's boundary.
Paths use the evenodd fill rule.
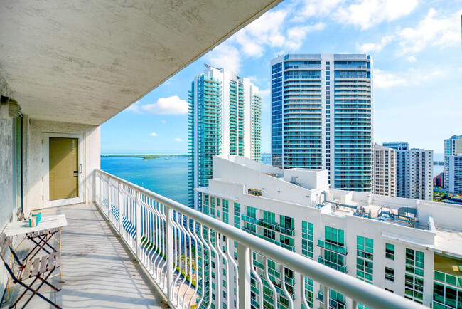
<path fill-rule="evenodd" d="M 250 268 L 252 256 L 247 246 L 237 243 L 237 264 L 239 265 L 239 305 L 240 308 L 250 308 Z"/>

